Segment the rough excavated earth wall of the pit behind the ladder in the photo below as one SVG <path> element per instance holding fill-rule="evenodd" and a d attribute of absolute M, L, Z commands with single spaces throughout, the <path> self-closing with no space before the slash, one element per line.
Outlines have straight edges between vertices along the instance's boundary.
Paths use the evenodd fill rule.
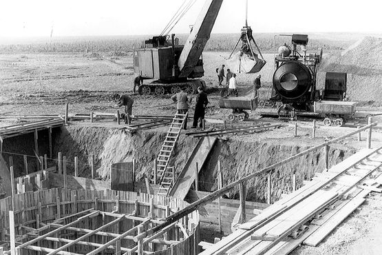
<path fill-rule="evenodd" d="M 145 176 L 153 174 L 153 161 L 158 156 L 165 132 L 143 131 L 130 134 L 123 130 L 68 126 L 56 134 L 54 154 L 62 152 L 68 161 L 78 156 L 80 161 L 79 176 L 89 176 L 88 156 L 95 155 L 96 170 L 101 179 L 109 179 L 109 169 L 112 163 L 136 159 L 136 180 L 144 181 Z M 306 138 L 305 138 L 306 139 Z M 307 142 L 308 141 L 308 142 Z M 177 174 L 191 155 L 198 139 L 180 135 L 174 149 L 170 165 L 176 167 Z M 223 184 L 231 183 L 263 167 L 277 163 L 293 156 L 310 146 L 323 143 L 323 139 L 268 139 L 266 141 L 222 141 L 218 140 L 211 154 L 200 170 L 200 190 L 211 192 L 217 189 L 217 161 L 221 161 Z M 330 165 L 335 165 L 346 159 L 355 150 L 343 145 L 331 145 L 329 151 Z M 84 163 L 84 164 L 81 164 Z M 69 171 L 73 167 L 68 164 Z M 282 194 L 292 190 L 293 174 L 296 175 L 297 187 L 304 180 L 310 180 L 315 172 L 324 169 L 323 150 L 301 156 L 299 159 L 278 167 L 271 173 L 271 202 L 279 200 Z M 267 176 L 259 176 L 247 182 L 247 200 L 264 203 L 266 201 Z M 227 198 L 238 198 L 239 187 L 226 194 Z"/>

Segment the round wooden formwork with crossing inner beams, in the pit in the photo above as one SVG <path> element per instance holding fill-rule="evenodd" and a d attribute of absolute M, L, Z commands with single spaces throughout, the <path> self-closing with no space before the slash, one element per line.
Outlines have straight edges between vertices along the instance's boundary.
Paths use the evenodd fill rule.
<path fill-rule="evenodd" d="M 11 224 L 17 254 L 92 254 L 95 249 L 113 254 L 196 254 L 200 233 L 196 211 L 162 234 L 147 236 L 138 247 L 133 240 L 138 229 L 144 232 L 160 225 L 187 205 L 175 198 L 114 190 L 25 192 L 0 200 L 0 239 L 10 249 Z"/>

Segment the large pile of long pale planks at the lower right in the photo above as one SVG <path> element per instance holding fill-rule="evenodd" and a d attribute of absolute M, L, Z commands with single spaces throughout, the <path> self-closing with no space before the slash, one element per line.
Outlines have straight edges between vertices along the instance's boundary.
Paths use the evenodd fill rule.
<path fill-rule="evenodd" d="M 317 174 L 202 254 L 288 254 L 318 245 L 365 201 L 381 192 L 382 147 L 365 149 Z"/>

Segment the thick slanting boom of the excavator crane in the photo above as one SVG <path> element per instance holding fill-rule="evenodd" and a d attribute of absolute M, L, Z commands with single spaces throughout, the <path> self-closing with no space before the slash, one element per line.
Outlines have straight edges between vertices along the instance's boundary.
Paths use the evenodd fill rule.
<path fill-rule="evenodd" d="M 206 0 L 178 60 L 179 77 L 193 72 L 204 50 L 223 0 Z"/>

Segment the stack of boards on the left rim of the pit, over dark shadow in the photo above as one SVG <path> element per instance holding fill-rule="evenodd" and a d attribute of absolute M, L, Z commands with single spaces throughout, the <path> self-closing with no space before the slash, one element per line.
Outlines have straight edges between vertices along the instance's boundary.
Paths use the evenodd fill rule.
<path fill-rule="evenodd" d="M 0 128 L 0 136 L 2 139 L 19 136 L 34 132 L 34 130 L 42 130 L 45 128 L 56 128 L 64 124 L 63 119 L 45 119 L 42 121 L 32 121 L 17 125 L 8 125 Z"/>

